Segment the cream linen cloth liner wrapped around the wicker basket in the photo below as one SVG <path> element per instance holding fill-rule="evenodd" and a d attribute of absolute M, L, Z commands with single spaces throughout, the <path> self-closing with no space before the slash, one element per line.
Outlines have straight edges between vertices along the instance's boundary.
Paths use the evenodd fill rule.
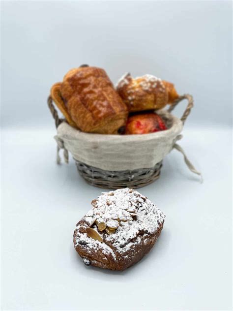
<path fill-rule="evenodd" d="M 103 170 L 150 168 L 173 149 L 183 128 L 180 119 L 169 112 L 157 113 L 172 124 L 168 130 L 143 135 L 104 135 L 81 132 L 62 122 L 56 139 L 76 160 Z"/>

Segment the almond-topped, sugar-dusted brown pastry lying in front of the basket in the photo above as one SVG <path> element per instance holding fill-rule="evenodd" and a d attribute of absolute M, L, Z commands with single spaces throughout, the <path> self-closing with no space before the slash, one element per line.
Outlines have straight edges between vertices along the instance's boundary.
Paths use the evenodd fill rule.
<path fill-rule="evenodd" d="M 103 192 L 77 223 L 74 247 L 86 265 L 125 270 L 150 251 L 165 215 L 138 191 Z"/>

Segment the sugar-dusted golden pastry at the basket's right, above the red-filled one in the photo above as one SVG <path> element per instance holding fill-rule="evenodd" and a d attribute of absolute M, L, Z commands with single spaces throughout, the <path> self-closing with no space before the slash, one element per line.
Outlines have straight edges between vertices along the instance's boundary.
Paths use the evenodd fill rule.
<path fill-rule="evenodd" d="M 118 81 L 117 92 L 130 112 L 161 109 L 179 97 L 172 83 L 150 74 L 135 79 L 125 74 Z"/>

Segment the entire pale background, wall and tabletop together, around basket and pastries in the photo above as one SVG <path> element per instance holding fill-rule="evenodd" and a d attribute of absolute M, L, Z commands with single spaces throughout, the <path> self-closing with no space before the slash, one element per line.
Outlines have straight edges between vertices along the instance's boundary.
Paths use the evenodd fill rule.
<path fill-rule="evenodd" d="M 230 1 L 1 1 L 1 310 L 232 310 Z M 166 215 L 123 273 L 86 267 L 75 224 L 100 195 L 55 162 L 46 99 L 82 63 L 191 93 L 179 144 L 139 189 Z M 184 103 L 177 107 L 180 116 Z M 107 189 L 106 189 L 107 190 Z"/>

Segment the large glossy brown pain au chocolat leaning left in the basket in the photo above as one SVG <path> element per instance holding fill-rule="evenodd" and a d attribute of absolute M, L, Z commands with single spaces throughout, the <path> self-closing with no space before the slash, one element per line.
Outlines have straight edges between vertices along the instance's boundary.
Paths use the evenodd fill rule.
<path fill-rule="evenodd" d="M 60 93 L 71 120 L 82 131 L 115 134 L 126 123 L 128 109 L 101 68 L 71 69 Z"/>

